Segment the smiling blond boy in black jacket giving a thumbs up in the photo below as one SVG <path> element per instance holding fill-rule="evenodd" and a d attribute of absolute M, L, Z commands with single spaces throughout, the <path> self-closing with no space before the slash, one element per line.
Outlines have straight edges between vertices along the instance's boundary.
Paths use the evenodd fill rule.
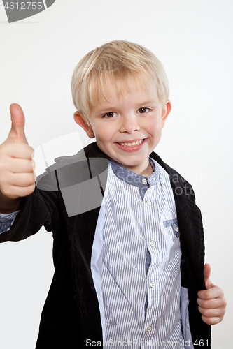
<path fill-rule="evenodd" d="M 210 348 L 226 303 L 204 267 L 192 187 L 153 153 L 171 111 L 160 61 L 113 41 L 80 61 L 71 88 L 74 119 L 96 143 L 56 159 L 35 187 L 24 116 L 11 105 L 0 147 L 0 241 L 42 225 L 54 237 L 36 348 Z"/>

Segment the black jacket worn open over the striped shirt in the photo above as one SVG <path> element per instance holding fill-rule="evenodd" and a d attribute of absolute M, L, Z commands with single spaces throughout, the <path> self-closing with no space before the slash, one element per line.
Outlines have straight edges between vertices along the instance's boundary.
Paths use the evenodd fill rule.
<path fill-rule="evenodd" d="M 195 348 L 210 348 L 211 327 L 202 321 L 197 306 L 197 292 L 206 289 L 201 212 L 195 205 L 192 186 L 157 154 L 153 152 L 150 157 L 167 171 L 174 191 L 185 260 L 181 262 L 181 283 L 188 288 L 192 341 L 197 344 Z M 12 228 L 0 235 L 0 242 L 19 241 L 34 235 L 42 225 L 53 234 L 55 274 L 41 314 L 36 349 L 87 348 L 86 339 L 102 343 L 90 260 L 106 169 L 107 157 L 96 143 L 76 156 L 58 158 L 55 165 L 38 178 L 34 193 L 22 198 L 20 213 Z M 78 186 L 80 195 L 75 188 L 76 184 L 89 183 L 90 179 L 99 186 L 101 195 L 96 198 L 97 191 L 89 191 L 88 198 L 96 207 L 82 211 L 81 186 Z M 72 207 L 79 209 L 73 212 Z"/>

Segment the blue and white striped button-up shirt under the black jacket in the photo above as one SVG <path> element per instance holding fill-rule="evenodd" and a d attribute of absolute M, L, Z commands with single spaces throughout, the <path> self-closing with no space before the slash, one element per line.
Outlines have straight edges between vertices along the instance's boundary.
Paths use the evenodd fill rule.
<path fill-rule="evenodd" d="M 148 179 L 108 165 L 102 269 L 106 349 L 113 343 L 183 348 L 176 206 L 167 172 L 152 164 L 156 170 Z"/>

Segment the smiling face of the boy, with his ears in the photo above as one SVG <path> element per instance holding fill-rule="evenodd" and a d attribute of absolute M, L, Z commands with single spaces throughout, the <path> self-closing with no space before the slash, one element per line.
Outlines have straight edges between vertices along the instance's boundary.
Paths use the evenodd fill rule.
<path fill-rule="evenodd" d="M 78 112 L 74 119 L 109 158 L 137 174 L 150 175 L 149 155 L 160 142 L 171 102 L 162 105 L 155 83 L 118 96 L 108 85 L 109 98 L 96 101 L 90 125 Z"/>

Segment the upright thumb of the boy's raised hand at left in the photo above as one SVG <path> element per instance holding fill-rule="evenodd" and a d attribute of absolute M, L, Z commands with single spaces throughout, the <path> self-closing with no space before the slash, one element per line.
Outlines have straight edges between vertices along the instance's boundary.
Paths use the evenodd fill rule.
<path fill-rule="evenodd" d="M 13 103 L 10 105 L 11 128 L 8 135 L 10 142 L 27 143 L 24 133 L 25 118 L 20 105 Z"/>

